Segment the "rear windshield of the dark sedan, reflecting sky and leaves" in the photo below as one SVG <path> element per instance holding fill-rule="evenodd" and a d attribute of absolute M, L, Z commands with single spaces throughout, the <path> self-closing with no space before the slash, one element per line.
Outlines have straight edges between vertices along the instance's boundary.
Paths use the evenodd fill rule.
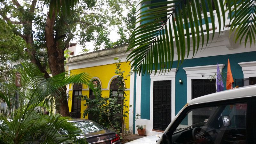
<path fill-rule="evenodd" d="M 100 124 L 94 123 L 92 121 L 71 121 L 71 123 L 80 128 L 84 134 L 105 130 L 105 128 Z"/>

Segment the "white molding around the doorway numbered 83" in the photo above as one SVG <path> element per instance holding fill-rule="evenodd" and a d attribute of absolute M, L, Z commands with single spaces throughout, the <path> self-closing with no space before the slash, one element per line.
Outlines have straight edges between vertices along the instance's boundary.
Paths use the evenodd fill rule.
<path fill-rule="evenodd" d="M 225 64 L 219 64 L 220 72 Z M 192 99 L 191 96 L 191 80 L 192 79 L 211 79 L 217 73 L 217 65 L 197 66 L 183 68 L 187 75 L 187 101 Z M 216 76 L 215 76 L 216 77 Z"/>

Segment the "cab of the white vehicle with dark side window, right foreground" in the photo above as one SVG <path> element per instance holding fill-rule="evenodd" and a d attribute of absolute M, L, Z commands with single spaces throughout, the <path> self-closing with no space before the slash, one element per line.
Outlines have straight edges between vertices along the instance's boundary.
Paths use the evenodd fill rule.
<path fill-rule="evenodd" d="M 189 101 L 157 144 L 256 143 L 256 85 Z"/>

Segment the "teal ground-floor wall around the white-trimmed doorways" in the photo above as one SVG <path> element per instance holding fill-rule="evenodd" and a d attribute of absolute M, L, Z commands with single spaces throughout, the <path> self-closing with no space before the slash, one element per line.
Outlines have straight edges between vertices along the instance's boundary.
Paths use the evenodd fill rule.
<path fill-rule="evenodd" d="M 187 103 L 187 75 L 186 71 L 183 69 L 185 67 L 196 67 L 196 66 L 206 66 L 206 65 L 216 65 L 225 64 L 225 67 L 222 69 L 224 76 L 226 77 L 228 59 L 230 61 L 231 71 L 233 79 L 244 78 L 242 68 L 237 63 L 247 62 L 247 61 L 256 61 L 256 52 L 244 52 L 238 54 L 228 54 L 228 55 L 219 55 L 203 58 L 194 58 L 184 60 L 182 65 L 178 68 L 175 78 L 175 115 L 180 111 L 181 108 Z M 173 68 L 177 67 L 177 61 L 174 61 Z M 216 69 L 217 72 L 217 69 Z M 183 81 L 183 84 L 179 83 L 179 79 Z M 223 81 L 224 90 L 226 90 L 226 81 Z M 233 86 L 235 84 L 233 83 Z M 140 108 L 143 109 L 141 112 L 142 119 L 150 118 L 150 76 L 144 75 L 141 77 L 141 105 Z"/>

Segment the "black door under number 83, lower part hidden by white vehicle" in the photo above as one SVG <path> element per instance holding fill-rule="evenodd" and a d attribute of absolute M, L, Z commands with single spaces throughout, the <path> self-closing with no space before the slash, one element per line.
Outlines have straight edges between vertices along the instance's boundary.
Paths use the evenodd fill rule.
<path fill-rule="evenodd" d="M 216 92 L 216 79 L 192 79 L 192 99 Z"/>

